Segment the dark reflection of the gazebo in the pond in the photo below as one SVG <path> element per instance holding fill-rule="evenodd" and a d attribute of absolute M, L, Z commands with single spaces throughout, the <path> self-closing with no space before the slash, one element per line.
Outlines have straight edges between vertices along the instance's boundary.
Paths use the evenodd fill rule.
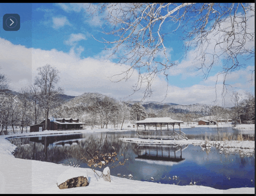
<path fill-rule="evenodd" d="M 179 163 L 184 161 L 182 158 L 182 149 L 186 149 L 188 145 L 139 145 L 138 161 L 159 161 L 164 163 Z M 180 150 L 180 156 L 176 157 L 176 152 Z M 174 156 L 170 156 L 170 152 L 174 152 Z"/>

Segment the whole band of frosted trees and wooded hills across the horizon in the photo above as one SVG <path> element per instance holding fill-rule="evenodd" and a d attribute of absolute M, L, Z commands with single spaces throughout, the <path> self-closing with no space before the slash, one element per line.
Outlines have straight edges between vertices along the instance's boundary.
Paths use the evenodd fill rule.
<path fill-rule="evenodd" d="M 38 68 L 38 75 L 31 86 L 22 88 L 19 93 L 11 93 L 12 91 L 8 90 L 7 77 L 0 73 L 0 133 L 7 134 L 8 127 L 11 127 L 14 133 L 14 127 L 17 126 L 23 133 L 25 127 L 39 124 L 50 116 L 78 118 L 92 129 L 109 128 L 109 125 L 122 129 L 124 123 L 140 121 L 146 117 L 171 117 L 174 120 L 192 122 L 204 116 L 196 111 L 177 112 L 179 110 L 166 105 L 146 109 L 140 102 L 122 102 L 100 93 L 83 93 L 64 102 L 61 99 L 63 89 L 58 87 L 59 80 L 59 71 L 47 64 Z M 254 121 L 253 94 L 248 92 L 242 100 L 238 92 L 233 92 L 232 103 L 232 108 L 213 106 L 210 110 L 207 108 L 205 113 L 214 115 L 215 121 L 228 118 L 240 124 L 246 120 Z M 45 123 L 47 127 L 47 121 Z"/>

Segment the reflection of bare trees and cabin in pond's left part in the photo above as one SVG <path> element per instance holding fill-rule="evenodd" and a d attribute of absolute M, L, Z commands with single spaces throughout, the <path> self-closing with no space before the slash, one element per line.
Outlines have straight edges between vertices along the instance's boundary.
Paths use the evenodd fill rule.
<path fill-rule="evenodd" d="M 108 153 L 116 151 L 120 156 L 121 162 L 124 159 L 131 160 L 134 152 L 138 151 L 136 144 L 119 141 L 122 133 L 92 133 L 78 135 L 62 135 L 42 138 L 20 138 L 12 139 L 11 142 L 18 148 L 15 152 L 16 158 L 33 159 L 53 163 L 64 163 L 81 165 L 81 158 L 87 156 L 87 152 L 99 151 L 99 153 Z M 69 139 L 69 140 L 68 140 Z M 81 140 L 82 139 L 82 140 Z M 68 141 L 67 141 L 68 140 Z M 21 143 L 22 142 L 22 143 Z M 29 144 L 27 147 L 21 145 Z M 132 147 L 130 147 L 132 145 Z M 113 148 L 114 147 L 114 148 Z M 115 150 L 114 150 L 115 149 Z"/>

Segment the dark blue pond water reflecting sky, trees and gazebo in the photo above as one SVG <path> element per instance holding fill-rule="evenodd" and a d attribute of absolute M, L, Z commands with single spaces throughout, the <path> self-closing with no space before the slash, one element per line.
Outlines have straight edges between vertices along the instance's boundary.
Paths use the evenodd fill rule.
<path fill-rule="evenodd" d="M 221 138 L 224 132 L 235 138 L 241 133 L 231 128 L 192 128 L 182 131 L 190 139 L 202 139 L 204 135 L 208 138 L 210 135 L 212 138 Z M 243 136 L 248 135 L 254 137 L 254 133 Z M 189 185 L 190 182 L 196 182 L 196 185 L 217 189 L 254 187 L 254 154 L 225 154 L 213 147 L 206 150 L 193 145 L 138 145 L 122 142 L 118 138 L 136 138 L 136 132 L 94 132 L 10 141 L 18 146 L 14 154 L 16 158 L 80 165 L 79 167 L 86 168 L 88 166 L 81 158 L 89 158 L 89 153 L 95 153 L 97 150 L 100 153 L 116 151 L 119 160 L 109 167 L 111 174 L 120 178 L 129 178 L 129 174 L 132 174 L 133 180 L 162 184 Z M 119 161 L 123 163 L 125 159 L 128 159 L 125 164 L 118 166 Z M 176 179 L 173 178 L 175 175 Z"/>

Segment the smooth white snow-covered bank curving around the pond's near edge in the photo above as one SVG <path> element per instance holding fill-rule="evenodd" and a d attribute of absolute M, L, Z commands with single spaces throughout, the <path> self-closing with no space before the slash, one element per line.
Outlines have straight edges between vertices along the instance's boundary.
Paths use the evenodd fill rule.
<path fill-rule="evenodd" d="M 60 133 L 84 133 L 100 130 L 77 130 L 77 131 L 44 131 L 23 134 L 1 135 L 0 136 L 0 193 L 183 193 L 183 194 L 212 194 L 212 193 L 250 193 L 255 192 L 255 188 L 231 188 L 219 190 L 205 186 L 178 186 L 169 184 L 157 184 L 154 182 L 141 182 L 136 180 L 123 179 L 111 176 L 111 183 L 102 180 L 97 181 L 94 172 L 88 168 L 64 166 L 48 162 L 35 160 L 16 159 L 12 155 L 16 146 L 11 144 L 6 138 L 14 136 L 37 135 L 37 134 L 60 134 Z M 181 142 L 181 141 L 176 141 Z M 190 141 L 182 141 L 190 142 Z M 201 141 L 202 142 L 202 141 Z M 197 143 L 197 141 L 193 141 Z M 198 142 L 199 143 L 199 142 Z M 242 142 L 232 145 L 252 147 L 251 142 Z M 254 142 L 253 142 L 254 143 Z M 254 144 L 253 144 L 254 146 Z M 70 171 L 71 170 L 71 171 Z M 59 189 L 57 182 L 65 179 L 65 174 L 87 175 L 89 185 L 70 189 Z M 64 176 L 64 177 L 63 177 Z M 75 176 L 74 176 L 75 177 Z"/>

